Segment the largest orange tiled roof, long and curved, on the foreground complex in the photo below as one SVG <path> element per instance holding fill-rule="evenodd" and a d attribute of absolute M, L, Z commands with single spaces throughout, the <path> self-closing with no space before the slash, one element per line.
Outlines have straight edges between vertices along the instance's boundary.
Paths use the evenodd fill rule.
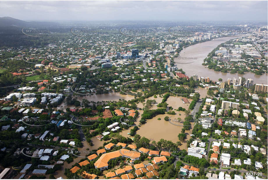
<path fill-rule="evenodd" d="M 100 158 L 94 163 L 94 165 L 97 168 L 105 167 L 108 166 L 108 161 L 112 158 L 117 158 L 119 156 L 126 156 L 131 159 L 136 159 L 141 156 L 141 153 L 136 152 L 136 151 L 129 151 L 128 149 L 120 149 L 118 151 L 113 151 L 110 153 L 105 153 L 100 156 Z"/>

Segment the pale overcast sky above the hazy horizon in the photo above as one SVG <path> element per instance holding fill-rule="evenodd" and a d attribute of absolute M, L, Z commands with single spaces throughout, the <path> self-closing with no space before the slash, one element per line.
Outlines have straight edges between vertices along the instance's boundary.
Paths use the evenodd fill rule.
<path fill-rule="evenodd" d="M 267 21 L 267 1 L 0 1 L 20 20 Z"/>

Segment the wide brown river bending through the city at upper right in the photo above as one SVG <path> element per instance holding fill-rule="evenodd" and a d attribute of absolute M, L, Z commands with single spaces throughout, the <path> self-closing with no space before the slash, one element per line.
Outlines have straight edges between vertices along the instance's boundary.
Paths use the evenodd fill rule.
<path fill-rule="evenodd" d="M 224 37 L 218 38 L 210 41 L 206 41 L 203 43 L 197 43 L 195 45 L 191 45 L 186 47 L 180 52 L 181 57 L 191 58 L 191 59 L 184 59 L 184 60 L 175 60 L 177 67 L 186 73 L 187 76 L 191 77 L 194 74 L 197 74 L 198 77 L 210 77 L 213 81 L 218 81 L 219 78 L 222 78 L 223 81 L 227 81 L 228 78 L 232 79 L 236 77 L 244 77 L 244 78 L 251 78 L 253 79 L 254 84 L 267 84 L 267 74 L 263 75 L 255 75 L 251 72 L 245 72 L 245 74 L 231 74 L 231 73 L 221 73 L 216 72 L 213 69 L 206 68 L 203 66 L 203 60 L 207 57 L 207 55 L 218 45 L 224 43 L 230 39 L 234 39 L 234 37 Z M 185 52 L 185 53 L 184 53 Z M 197 58 L 197 59 L 196 59 Z M 180 62 L 193 62 L 188 64 L 180 64 Z"/>

